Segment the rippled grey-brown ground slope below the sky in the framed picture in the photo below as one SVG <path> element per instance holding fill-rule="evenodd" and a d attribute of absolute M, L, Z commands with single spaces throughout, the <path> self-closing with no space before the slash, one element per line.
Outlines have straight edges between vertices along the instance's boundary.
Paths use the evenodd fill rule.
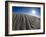
<path fill-rule="evenodd" d="M 13 30 L 40 29 L 40 18 L 24 14 L 12 14 Z"/>

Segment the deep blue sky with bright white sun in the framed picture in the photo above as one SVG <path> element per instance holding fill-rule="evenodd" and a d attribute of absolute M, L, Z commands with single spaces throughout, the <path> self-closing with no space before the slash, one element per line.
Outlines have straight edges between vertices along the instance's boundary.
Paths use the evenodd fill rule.
<path fill-rule="evenodd" d="M 22 13 L 22 14 L 33 14 L 36 16 L 40 16 L 40 8 L 39 7 L 19 7 L 13 6 L 12 7 L 13 13 Z"/>

